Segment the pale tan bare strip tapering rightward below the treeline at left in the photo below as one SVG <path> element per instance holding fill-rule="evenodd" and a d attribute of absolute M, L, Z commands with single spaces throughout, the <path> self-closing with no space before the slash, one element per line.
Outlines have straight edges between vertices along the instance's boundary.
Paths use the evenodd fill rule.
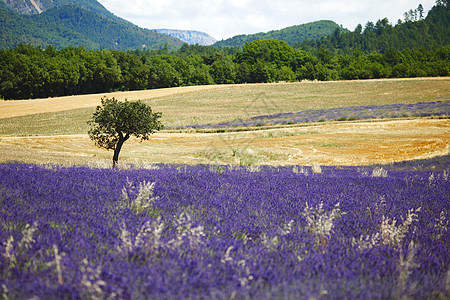
<path fill-rule="evenodd" d="M 178 88 L 115 92 L 46 99 L 0 101 L 0 118 L 19 117 L 38 113 L 59 112 L 71 109 L 96 107 L 97 105 L 100 105 L 100 101 L 103 96 L 107 96 L 109 98 L 115 97 L 116 99 L 122 101 L 125 99 L 128 99 L 130 101 L 148 100 L 203 90 L 217 89 L 218 87 L 223 86 L 186 86 Z"/>

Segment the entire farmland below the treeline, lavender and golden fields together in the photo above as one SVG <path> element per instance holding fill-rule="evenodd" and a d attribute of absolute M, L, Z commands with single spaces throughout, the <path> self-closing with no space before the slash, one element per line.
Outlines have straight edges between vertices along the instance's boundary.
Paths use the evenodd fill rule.
<path fill-rule="evenodd" d="M 0 102 L 3 298 L 450 297 L 448 78 L 160 92 L 119 169 L 103 95 Z"/>

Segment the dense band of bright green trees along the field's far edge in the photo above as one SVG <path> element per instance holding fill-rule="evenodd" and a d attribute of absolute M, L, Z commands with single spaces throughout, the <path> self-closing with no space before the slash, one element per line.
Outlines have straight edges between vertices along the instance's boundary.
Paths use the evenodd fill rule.
<path fill-rule="evenodd" d="M 317 56 L 286 42 L 257 40 L 242 49 L 183 45 L 178 51 L 0 50 L 0 97 L 45 98 L 186 85 L 449 76 L 450 46 L 386 53 Z"/>

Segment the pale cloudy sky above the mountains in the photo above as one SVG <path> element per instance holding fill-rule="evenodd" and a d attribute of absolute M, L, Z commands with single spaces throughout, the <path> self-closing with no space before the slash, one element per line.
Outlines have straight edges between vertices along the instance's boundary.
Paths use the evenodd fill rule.
<path fill-rule="evenodd" d="M 393 24 L 435 0 L 98 0 L 115 15 L 148 29 L 203 31 L 221 40 L 238 34 L 282 29 L 332 20 L 354 30 L 358 24 L 387 17 Z"/>

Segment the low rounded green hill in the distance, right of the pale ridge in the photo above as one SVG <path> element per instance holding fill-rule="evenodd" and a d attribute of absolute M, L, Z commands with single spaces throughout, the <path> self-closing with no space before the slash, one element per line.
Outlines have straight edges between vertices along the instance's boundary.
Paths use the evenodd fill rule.
<path fill-rule="evenodd" d="M 291 27 L 286 27 L 281 30 L 273 30 L 269 32 L 260 32 L 256 34 L 248 35 L 237 35 L 232 38 L 219 41 L 214 44 L 214 46 L 223 47 L 242 47 L 246 42 L 252 42 L 255 40 L 280 40 L 285 41 L 289 45 L 293 46 L 299 44 L 304 40 L 318 39 L 324 36 L 332 34 L 339 25 L 333 21 L 316 21 L 311 23 L 306 23 L 302 25 L 296 25 Z M 347 31 L 346 29 L 342 29 Z"/>

